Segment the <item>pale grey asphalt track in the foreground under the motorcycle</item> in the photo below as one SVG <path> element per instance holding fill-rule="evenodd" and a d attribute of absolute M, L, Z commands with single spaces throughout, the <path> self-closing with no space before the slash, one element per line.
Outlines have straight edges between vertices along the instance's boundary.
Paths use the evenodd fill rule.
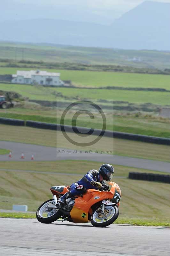
<path fill-rule="evenodd" d="M 0 255 L 169 256 L 170 228 L 0 218 Z"/>

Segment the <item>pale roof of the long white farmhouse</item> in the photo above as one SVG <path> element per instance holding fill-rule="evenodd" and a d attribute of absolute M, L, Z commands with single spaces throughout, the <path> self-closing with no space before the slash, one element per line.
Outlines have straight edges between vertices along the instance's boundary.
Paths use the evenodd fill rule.
<path fill-rule="evenodd" d="M 23 76 L 24 78 L 31 78 L 31 76 L 60 76 L 60 73 L 50 73 L 40 70 L 17 70 L 17 76 Z M 16 75 L 13 75 L 13 77 L 16 77 Z"/>

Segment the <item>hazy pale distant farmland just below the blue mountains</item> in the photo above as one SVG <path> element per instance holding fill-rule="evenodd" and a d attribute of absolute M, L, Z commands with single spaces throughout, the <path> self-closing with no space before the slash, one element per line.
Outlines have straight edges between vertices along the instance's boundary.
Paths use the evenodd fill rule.
<path fill-rule="evenodd" d="M 17 48 L 17 52 L 16 52 Z M 23 51 L 24 49 L 24 51 Z M 130 59 L 141 58 L 141 62 Z M 37 45 L 0 42 L 0 58 L 98 65 L 127 65 L 139 68 L 169 68 L 169 52 L 121 50 L 64 45 Z"/>

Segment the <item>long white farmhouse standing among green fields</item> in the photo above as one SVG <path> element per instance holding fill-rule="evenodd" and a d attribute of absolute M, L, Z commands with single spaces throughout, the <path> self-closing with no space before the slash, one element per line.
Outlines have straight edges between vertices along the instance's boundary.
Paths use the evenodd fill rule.
<path fill-rule="evenodd" d="M 60 80 L 60 73 L 50 73 L 40 70 L 17 70 L 17 74 L 12 75 L 11 82 L 14 84 L 41 84 L 48 86 L 64 85 L 64 82 Z"/>

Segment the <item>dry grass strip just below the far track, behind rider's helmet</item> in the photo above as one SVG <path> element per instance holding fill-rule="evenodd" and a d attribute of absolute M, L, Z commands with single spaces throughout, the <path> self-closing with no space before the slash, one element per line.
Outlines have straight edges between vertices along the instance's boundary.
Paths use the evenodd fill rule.
<path fill-rule="evenodd" d="M 77 174 L 84 175 L 91 169 L 99 169 L 100 163 L 95 161 L 88 160 L 58 160 L 58 161 L 33 161 L 33 162 L 18 162 L 18 161 L 1 161 L 1 169 L 4 170 L 20 170 L 20 171 L 35 171 L 35 172 L 54 172 L 54 174 Z M 113 164 L 113 163 L 111 163 Z M 166 174 L 166 172 L 157 172 L 151 170 L 145 170 L 141 168 L 127 167 L 122 165 L 114 165 L 115 173 L 114 178 L 118 177 L 128 177 L 129 172 L 148 172 L 148 173 L 157 173 L 157 174 Z M 61 170 L 61 166 L 64 166 Z M 4 172 L 4 171 L 3 171 Z M 52 175 L 52 174 L 51 174 Z"/>

